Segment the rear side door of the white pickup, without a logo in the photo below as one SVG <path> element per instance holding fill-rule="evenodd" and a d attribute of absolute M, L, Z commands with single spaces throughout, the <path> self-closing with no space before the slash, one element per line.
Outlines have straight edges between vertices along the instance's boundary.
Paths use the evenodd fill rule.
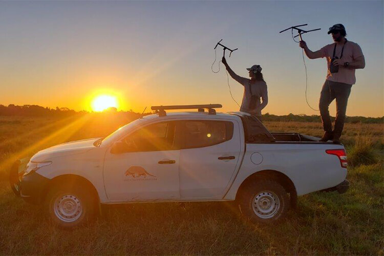
<path fill-rule="evenodd" d="M 238 124 L 217 120 L 188 120 L 182 124 L 181 198 L 222 198 L 240 164 Z"/>

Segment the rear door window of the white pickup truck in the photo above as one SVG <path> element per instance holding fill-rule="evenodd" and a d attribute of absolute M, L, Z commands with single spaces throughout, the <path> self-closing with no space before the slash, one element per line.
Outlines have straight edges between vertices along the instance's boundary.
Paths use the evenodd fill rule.
<path fill-rule="evenodd" d="M 228 121 L 190 120 L 184 122 L 183 148 L 212 146 L 232 139 L 233 123 Z"/>

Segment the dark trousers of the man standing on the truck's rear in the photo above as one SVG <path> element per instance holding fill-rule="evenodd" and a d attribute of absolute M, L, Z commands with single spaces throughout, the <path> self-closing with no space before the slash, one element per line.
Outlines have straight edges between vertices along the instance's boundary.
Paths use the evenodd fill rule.
<path fill-rule="evenodd" d="M 332 82 L 326 80 L 322 92 L 320 94 L 320 101 L 318 103 L 318 108 L 320 110 L 320 115 L 322 116 L 322 122 L 324 131 L 332 132 L 332 122 L 331 117 L 329 116 L 329 104 L 336 99 L 336 119 L 335 127 L 333 130 L 334 134 L 342 135 L 345 113 L 347 111 L 348 97 L 351 93 L 351 84 L 342 83 L 342 82 Z"/>

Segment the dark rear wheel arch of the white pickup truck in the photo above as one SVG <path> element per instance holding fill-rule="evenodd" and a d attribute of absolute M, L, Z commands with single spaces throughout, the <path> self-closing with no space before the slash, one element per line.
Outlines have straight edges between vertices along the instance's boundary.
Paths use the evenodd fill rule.
<path fill-rule="evenodd" d="M 257 173 L 254 173 L 250 175 L 248 178 L 246 178 L 240 185 L 237 194 L 236 194 L 236 200 L 238 200 L 239 196 L 242 193 L 242 190 L 244 187 L 246 187 L 250 182 L 260 179 L 272 179 L 277 182 L 279 182 L 284 189 L 289 193 L 290 197 L 290 205 L 291 208 L 295 209 L 297 206 L 297 192 L 296 187 L 294 186 L 294 183 L 292 180 L 285 174 L 279 172 L 278 170 L 261 170 Z"/>

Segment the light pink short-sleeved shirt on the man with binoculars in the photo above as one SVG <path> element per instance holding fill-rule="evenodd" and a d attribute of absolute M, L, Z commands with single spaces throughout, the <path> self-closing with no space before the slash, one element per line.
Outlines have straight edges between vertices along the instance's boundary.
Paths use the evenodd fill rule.
<path fill-rule="evenodd" d="M 347 84 L 355 84 L 356 83 L 355 69 L 347 69 L 339 66 L 337 73 L 329 72 L 329 65 L 333 56 L 333 49 L 335 47 L 335 44 L 336 43 L 327 45 L 320 50 L 322 53 L 322 58 L 327 57 L 327 65 L 328 65 L 327 80 L 334 81 L 334 82 L 343 82 Z M 340 58 L 340 55 L 342 55 L 342 49 L 343 49 L 343 45 L 337 45 L 335 56 Z M 347 41 L 343 51 L 342 62 L 343 63 L 352 62 L 353 60 L 355 60 L 360 56 L 363 56 L 360 46 L 355 42 Z"/>

